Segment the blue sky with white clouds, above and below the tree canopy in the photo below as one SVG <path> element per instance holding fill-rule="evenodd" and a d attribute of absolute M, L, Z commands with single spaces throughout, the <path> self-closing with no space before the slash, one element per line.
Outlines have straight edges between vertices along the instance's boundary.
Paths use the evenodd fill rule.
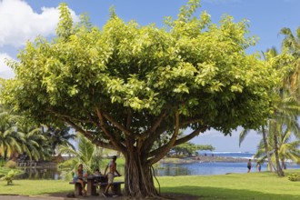
<path fill-rule="evenodd" d="M 179 8 L 187 0 L 0 0 L 0 77 L 11 78 L 13 72 L 5 65 L 5 58 L 16 59 L 19 49 L 27 40 L 36 35 L 55 35 L 58 21 L 57 6 L 65 2 L 75 20 L 86 13 L 94 25 L 105 25 L 109 7 L 115 5 L 116 14 L 128 22 L 135 20 L 140 25 L 155 23 L 162 26 L 164 16 L 176 17 Z M 197 14 L 206 11 L 213 23 L 218 23 L 222 15 L 232 15 L 235 22 L 249 21 L 250 35 L 260 39 L 248 54 L 265 51 L 275 46 L 280 49 L 283 39 L 278 35 L 283 27 L 293 31 L 300 25 L 299 0 L 202 0 Z M 192 140 L 196 144 L 214 145 L 217 151 L 255 151 L 260 136 L 252 133 L 245 143 L 238 146 L 238 132 L 224 137 L 214 130 Z"/>

